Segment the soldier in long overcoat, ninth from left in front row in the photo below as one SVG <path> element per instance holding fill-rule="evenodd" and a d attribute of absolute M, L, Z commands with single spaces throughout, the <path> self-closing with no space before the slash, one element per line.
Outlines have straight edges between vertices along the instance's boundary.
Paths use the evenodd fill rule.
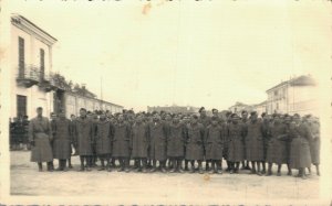
<path fill-rule="evenodd" d="M 195 172 L 195 161 L 198 162 L 199 173 L 203 174 L 205 128 L 198 123 L 198 117 L 191 116 L 191 121 L 186 127 L 186 160 L 190 161 L 190 172 Z"/>

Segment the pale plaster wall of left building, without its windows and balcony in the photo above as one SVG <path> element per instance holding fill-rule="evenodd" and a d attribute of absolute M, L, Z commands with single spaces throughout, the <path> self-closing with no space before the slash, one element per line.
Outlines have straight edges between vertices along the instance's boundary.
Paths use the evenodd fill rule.
<path fill-rule="evenodd" d="M 50 72 L 50 57 L 49 46 L 38 40 L 35 36 L 28 34 L 27 32 L 18 29 L 11 24 L 11 109 L 10 117 L 17 117 L 17 95 L 27 97 L 27 115 L 29 118 L 35 116 L 35 108 L 43 107 L 44 116 L 49 117 L 50 112 L 53 111 L 53 91 L 45 93 L 34 85 L 30 88 L 18 86 L 17 76 L 19 73 L 19 36 L 24 39 L 24 62 L 25 65 L 34 64 L 40 66 L 39 50 L 44 48 L 45 52 L 45 74 Z"/>

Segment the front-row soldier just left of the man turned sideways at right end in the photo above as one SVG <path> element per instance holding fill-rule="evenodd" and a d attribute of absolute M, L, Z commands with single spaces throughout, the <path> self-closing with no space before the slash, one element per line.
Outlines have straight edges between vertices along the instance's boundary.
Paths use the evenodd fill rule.
<path fill-rule="evenodd" d="M 269 129 L 270 141 L 268 145 L 267 162 L 269 163 L 268 176 L 272 174 L 273 163 L 278 165 L 277 175 L 280 176 L 281 165 L 288 164 L 287 151 L 287 126 L 278 115 L 274 116 L 273 124 Z M 290 171 L 290 169 L 289 169 Z"/>

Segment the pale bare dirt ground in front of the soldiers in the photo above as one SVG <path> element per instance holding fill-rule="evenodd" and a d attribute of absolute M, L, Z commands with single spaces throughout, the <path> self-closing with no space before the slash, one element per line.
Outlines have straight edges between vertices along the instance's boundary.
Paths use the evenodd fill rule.
<path fill-rule="evenodd" d="M 69 172 L 38 172 L 30 162 L 29 151 L 14 151 L 11 156 L 11 195 L 28 196 L 112 196 L 114 199 L 139 198 L 170 199 L 186 203 L 193 199 L 312 199 L 319 198 L 320 177 L 314 173 L 308 180 L 287 176 L 240 174 L 178 174 L 178 173 L 120 173 L 94 169 L 76 172 L 79 158 L 72 159 L 74 169 Z M 58 161 L 54 161 L 58 166 Z M 226 164 L 224 164 L 226 165 Z M 44 166 L 45 167 L 45 166 Z M 276 170 L 276 169 L 274 169 Z M 314 170 L 313 170 L 314 171 Z M 160 203 L 160 202 L 158 202 Z"/>

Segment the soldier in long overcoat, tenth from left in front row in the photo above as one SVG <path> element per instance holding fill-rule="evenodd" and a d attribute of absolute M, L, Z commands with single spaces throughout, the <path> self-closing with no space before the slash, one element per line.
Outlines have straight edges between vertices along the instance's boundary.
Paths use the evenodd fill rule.
<path fill-rule="evenodd" d="M 210 173 L 222 173 L 221 161 L 222 161 L 222 148 L 224 148 L 225 131 L 218 124 L 218 118 L 211 118 L 211 124 L 206 129 L 205 137 L 205 149 L 206 160 L 211 162 Z"/>

